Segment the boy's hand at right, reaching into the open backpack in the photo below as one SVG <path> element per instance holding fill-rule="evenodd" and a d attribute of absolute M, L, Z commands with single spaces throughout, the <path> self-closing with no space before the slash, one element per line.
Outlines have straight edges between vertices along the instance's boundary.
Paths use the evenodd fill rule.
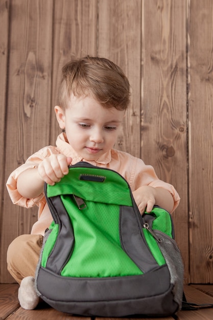
<path fill-rule="evenodd" d="M 133 196 L 139 212 L 143 214 L 145 210 L 151 212 L 155 204 L 155 188 L 143 186 L 133 191 Z"/>

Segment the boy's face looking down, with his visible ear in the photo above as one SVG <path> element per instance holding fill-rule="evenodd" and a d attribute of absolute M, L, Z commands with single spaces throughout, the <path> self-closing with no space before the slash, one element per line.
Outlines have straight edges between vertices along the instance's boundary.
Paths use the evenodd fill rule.
<path fill-rule="evenodd" d="M 69 144 L 85 160 L 96 161 L 115 144 L 125 111 L 104 108 L 92 97 L 72 95 L 68 108 L 55 107 L 61 129 Z"/>

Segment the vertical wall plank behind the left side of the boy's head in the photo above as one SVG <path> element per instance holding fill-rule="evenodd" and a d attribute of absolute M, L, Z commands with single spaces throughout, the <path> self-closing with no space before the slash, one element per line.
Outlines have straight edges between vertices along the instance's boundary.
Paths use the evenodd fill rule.
<path fill-rule="evenodd" d="M 50 144 L 55 145 L 61 132 L 54 106 L 62 66 L 76 57 L 96 55 L 97 0 L 57 0 L 54 11 L 53 90 Z"/>

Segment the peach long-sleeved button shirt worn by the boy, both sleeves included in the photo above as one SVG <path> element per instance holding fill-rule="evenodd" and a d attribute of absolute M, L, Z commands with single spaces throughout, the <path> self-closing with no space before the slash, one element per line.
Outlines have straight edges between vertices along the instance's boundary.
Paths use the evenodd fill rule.
<path fill-rule="evenodd" d="M 48 205 L 46 204 L 44 193 L 42 192 L 38 197 L 32 199 L 22 197 L 17 190 L 17 178 L 21 172 L 37 167 L 44 158 L 53 153 L 63 153 L 66 156 L 72 157 L 73 165 L 79 161 L 86 161 L 79 156 L 67 142 L 66 134 L 61 133 L 57 138 L 56 146 L 44 147 L 31 155 L 25 164 L 21 165 L 10 174 L 7 180 L 6 186 L 13 203 L 25 208 L 31 208 L 34 205 L 38 205 L 38 221 L 34 223 L 31 234 L 44 235 L 44 231 L 49 227 L 53 219 Z M 145 185 L 162 187 L 168 190 L 174 199 L 173 211 L 179 204 L 180 197 L 175 188 L 167 182 L 159 180 L 152 166 L 145 165 L 141 159 L 136 158 L 129 153 L 111 149 L 108 153 L 101 156 L 96 162 L 86 162 L 94 166 L 104 167 L 119 172 L 128 181 L 132 191 Z"/>

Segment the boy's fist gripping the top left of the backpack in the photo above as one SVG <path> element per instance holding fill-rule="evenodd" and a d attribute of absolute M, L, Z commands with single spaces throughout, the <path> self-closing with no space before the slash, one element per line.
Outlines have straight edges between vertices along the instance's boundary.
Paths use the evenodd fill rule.
<path fill-rule="evenodd" d="M 38 166 L 40 178 L 47 184 L 53 186 L 68 173 L 68 165 L 72 162 L 71 157 L 63 154 L 52 154 L 45 158 Z"/>

